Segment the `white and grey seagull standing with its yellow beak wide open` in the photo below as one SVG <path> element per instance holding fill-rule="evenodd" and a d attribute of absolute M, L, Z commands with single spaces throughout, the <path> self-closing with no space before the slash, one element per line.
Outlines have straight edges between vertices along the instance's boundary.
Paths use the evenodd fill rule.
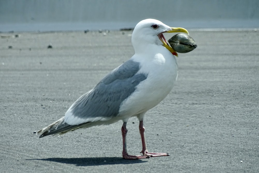
<path fill-rule="evenodd" d="M 132 32 L 135 54 L 78 98 L 64 117 L 39 130 L 40 138 L 122 120 L 123 158 L 169 156 L 168 153 L 148 152 L 143 126 L 145 113 L 169 94 L 177 79 L 177 52 L 168 45 L 163 35 L 166 32 L 189 34 L 184 28 L 169 27 L 156 19 L 140 21 Z M 139 120 L 142 155 L 127 152 L 126 125 L 133 116 Z"/>

